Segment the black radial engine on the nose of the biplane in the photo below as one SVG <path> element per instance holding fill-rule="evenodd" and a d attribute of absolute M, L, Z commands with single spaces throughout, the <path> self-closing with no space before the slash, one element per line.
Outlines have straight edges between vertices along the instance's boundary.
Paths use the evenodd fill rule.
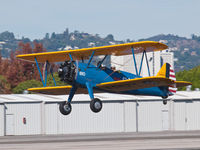
<path fill-rule="evenodd" d="M 71 84 L 76 76 L 76 65 L 74 61 L 65 61 L 58 69 L 58 76 L 61 81 Z"/>

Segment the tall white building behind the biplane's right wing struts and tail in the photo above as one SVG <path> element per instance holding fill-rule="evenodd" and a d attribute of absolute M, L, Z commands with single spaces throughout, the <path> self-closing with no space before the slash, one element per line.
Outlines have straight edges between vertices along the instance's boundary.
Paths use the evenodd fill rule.
<path fill-rule="evenodd" d="M 135 58 L 139 72 L 142 54 L 136 54 Z M 168 52 L 168 51 L 149 52 L 147 53 L 147 59 L 149 64 L 150 76 L 155 76 L 164 63 L 169 63 L 172 65 L 172 68 L 174 68 L 173 52 Z M 115 66 L 117 70 L 127 71 L 136 74 L 133 55 L 111 56 L 111 66 Z M 147 61 L 145 57 L 143 59 L 140 75 L 143 77 L 149 76 Z"/>

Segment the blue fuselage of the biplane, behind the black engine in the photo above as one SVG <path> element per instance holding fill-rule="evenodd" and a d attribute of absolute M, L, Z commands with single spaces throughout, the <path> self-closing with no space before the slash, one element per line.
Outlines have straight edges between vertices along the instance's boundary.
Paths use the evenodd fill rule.
<path fill-rule="evenodd" d="M 134 78 L 141 78 L 141 76 L 136 76 L 135 74 L 128 73 L 125 71 L 113 71 L 107 67 L 99 67 L 90 64 L 87 67 L 86 63 L 78 63 L 76 64 L 76 84 L 86 88 L 86 83 L 89 82 L 93 88 L 102 92 L 113 92 L 113 91 L 105 91 L 96 87 L 96 84 L 104 83 L 104 82 L 112 82 L 117 80 L 127 80 Z M 131 94 L 131 95 L 151 95 L 151 96 L 168 96 L 168 90 L 165 87 L 152 87 L 152 88 L 144 88 L 137 90 L 128 90 L 117 92 L 121 94 Z"/>

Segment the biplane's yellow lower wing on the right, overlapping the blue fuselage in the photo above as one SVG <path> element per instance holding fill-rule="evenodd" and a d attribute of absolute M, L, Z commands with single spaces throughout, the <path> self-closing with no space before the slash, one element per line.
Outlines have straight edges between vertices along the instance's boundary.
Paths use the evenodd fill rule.
<path fill-rule="evenodd" d="M 103 90 L 111 92 L 120 92 L 120 91 L 137 90 L 150 87 L 169 86 L 172 84 L 174 84 L 174 81 L 165 77 L 144 77 L 137 79 L 105 82 L 98 84 L 96 86 Z"/>

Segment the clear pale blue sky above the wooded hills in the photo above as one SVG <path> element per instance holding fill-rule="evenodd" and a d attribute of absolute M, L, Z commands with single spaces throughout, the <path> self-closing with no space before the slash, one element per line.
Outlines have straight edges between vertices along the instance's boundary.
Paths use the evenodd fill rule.
<path fill-rule="evenodd" d="M 0 0 L 0 33 L 41 39 L 78 30 L 116 40 L 200 35 L 200 0 Z"/>

